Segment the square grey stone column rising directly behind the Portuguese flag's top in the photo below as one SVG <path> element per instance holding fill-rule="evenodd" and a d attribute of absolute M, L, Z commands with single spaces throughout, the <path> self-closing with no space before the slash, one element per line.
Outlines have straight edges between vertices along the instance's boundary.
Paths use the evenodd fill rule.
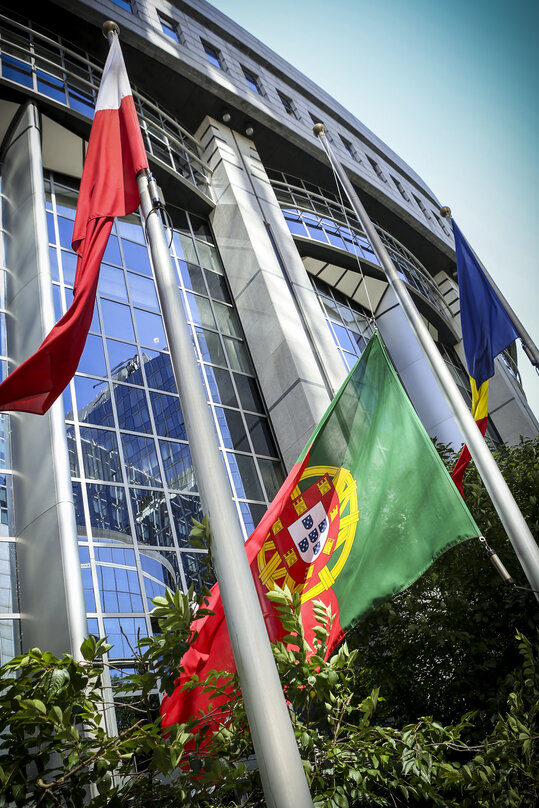
<path fill-rule="evenodd" d="M 344 369 L 252 141 L 206 118 L 212 226 L 277 441 L 289 468 Z"/>

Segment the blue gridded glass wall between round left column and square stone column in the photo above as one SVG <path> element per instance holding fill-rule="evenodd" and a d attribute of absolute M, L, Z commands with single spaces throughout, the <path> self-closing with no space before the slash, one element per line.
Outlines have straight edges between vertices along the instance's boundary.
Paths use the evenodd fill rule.
<path fill-rule="evenodd" d="M 56 315 L 72 299 L 77 191 L 46 179 Z M 269 420 L 208 223 L 170 209 L 171 255 L 245 536 L 283 479 Z M 90 629 L 129 657 L 151 630 L 150 600 L 197 583 L 190 544 L 200 500 L 159 301 L 138 214 L 115 222 L 94 318 L 64 393 Z M 120 629 L 121 627 L 121 629 Z"/>

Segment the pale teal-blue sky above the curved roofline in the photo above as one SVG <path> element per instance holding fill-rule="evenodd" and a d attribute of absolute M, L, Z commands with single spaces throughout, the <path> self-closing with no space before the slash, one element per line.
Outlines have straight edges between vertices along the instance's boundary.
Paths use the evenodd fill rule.
<path fill-rule="evenodd" d="M 449 205 L 539 344 L 539 3 L 212 0 Z M 539 417 L 539 376 L 519 349 Z"/>

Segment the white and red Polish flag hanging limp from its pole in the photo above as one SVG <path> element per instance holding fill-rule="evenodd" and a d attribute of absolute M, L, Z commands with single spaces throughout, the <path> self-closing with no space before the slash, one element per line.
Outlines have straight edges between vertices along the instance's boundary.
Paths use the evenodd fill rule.
<path fill-rule="evenodd" d="M 148 160 L 118 37 L 103 71 L 73 227 L 73 302 L 37 351 L 0 384 L 0 410 L 43 415 L 73 378 L 92 322 L 99 268 L 115 216 L 137 209 Z"/>

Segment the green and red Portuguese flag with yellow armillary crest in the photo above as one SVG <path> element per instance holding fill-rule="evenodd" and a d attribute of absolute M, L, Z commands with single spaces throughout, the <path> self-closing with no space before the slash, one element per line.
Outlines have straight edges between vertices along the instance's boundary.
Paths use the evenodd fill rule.
<path fill-rule="evenodd" d="M 479 535 L 375 333 L 245 548 L 270 639 L 283 630 L 266 593 L 286 585 L 301 592 L 307 640 L 313 602 L 331 605 L 329 654 L 355 621 Z M 163 700 L 165 727 L 208 707 L 203 688 L 182 691 L 193 674 L 235 671 L 217 584 L 208 608 Z"/>

